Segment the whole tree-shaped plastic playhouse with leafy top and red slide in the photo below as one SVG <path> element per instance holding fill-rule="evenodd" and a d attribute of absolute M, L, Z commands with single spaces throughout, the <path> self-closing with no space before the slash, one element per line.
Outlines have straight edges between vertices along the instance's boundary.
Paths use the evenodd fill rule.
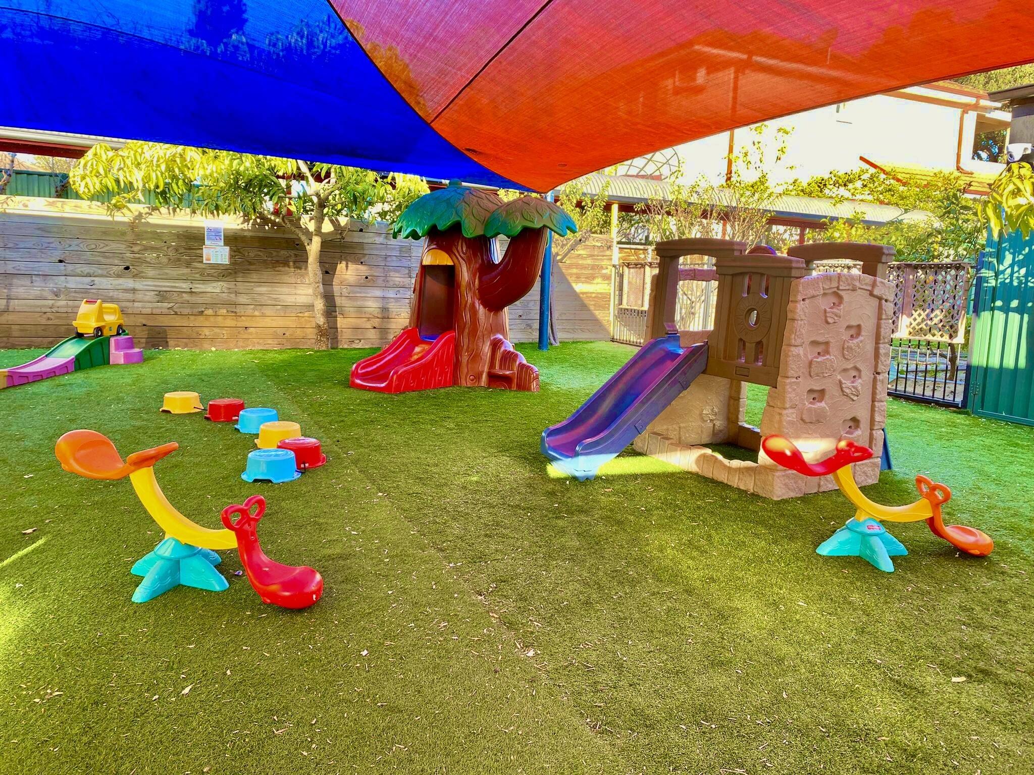
<path fill-rule="evenodd" d="M 431 388 L 538 391 L 539 372 L 509 342 L 507 307 L 535 285 L 547 233 L 576 231 L 550 202 L 450 183 L 424 194 L 395 223 L 396 238 L 424 239 L 409 324 L 357 363 L 349 383 L 384 393 Z M 498 257 L 494 238 L 510 238 Z"/>

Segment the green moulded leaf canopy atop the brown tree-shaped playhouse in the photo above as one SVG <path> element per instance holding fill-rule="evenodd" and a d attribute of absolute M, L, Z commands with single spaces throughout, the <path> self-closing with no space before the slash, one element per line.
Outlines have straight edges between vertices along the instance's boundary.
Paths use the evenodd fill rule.
<path fill-rule="evenodd" d="M 433 228 L 459 224 L 464 237 L 516 237 L 525 228 L 550 228 L 560 237 L 577 231 L 574 220 L 551 202 L 535 196 L 503 203 L 494 192 L 450 181 L 421 196 L 395 221 L 392 236 L 420 240 Z"/>

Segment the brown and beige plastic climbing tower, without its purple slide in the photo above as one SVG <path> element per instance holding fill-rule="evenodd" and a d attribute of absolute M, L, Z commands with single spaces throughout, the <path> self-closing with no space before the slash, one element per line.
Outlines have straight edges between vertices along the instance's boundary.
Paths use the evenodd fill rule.
<path fill-rule="evenodd" d="M 841 440 L 882 448 L 893 287 L 881 278 L 893 249 L 816 243 L 777 255 L 741 247 L 716 240 L 658 245 L 651 320 L 675 318 L 665 308 L 679 281 L 717 281 L 718 303 L 711 331 L 679 332 L 683 344 L 707 341 L 703 375 L 645 428 L 635 448 L 769 498 L 831 490 L 830 476 L 803 476 L 763 453 L 756 462 L 732 460 L 707 445 L 759 452 L 762 435 L 780 435 L 810 456 Z M 712 256 L 714 270 L 678 270 L 687 255 Z M 830 259 L 858 261 L 862 274 L 811 274 L 811 265 Z M 746 423 L 749 382 L 770 388 L 760 429 Z M 878 458 L 854 465 L 859 485 L 879 472 Z"/>

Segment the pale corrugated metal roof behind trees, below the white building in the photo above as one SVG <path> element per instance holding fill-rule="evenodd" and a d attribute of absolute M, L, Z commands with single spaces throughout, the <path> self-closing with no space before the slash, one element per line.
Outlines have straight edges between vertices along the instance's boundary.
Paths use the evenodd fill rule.
<path fill-rule="evenodd" d="M 649 199 L 668 199 L 671 196 L 668 182 L 652 178 L 595 173 L 582 180 L 584 192 L 589 196 L 599 194 L 604 184 L 609 181 L 607 200 L 622 205 L 636 205 Z M 925 220 L 931 217 L 925 211 L 906 211 L 871 202 L 854 199 L 839 202 L 814 196 L 781 195 L 772 200 L 768 209 L 774 217 L 788 220 L 819 222 L 850 218 L 860 220 L 869 226 L 882 226 L 892 220 Z"/>

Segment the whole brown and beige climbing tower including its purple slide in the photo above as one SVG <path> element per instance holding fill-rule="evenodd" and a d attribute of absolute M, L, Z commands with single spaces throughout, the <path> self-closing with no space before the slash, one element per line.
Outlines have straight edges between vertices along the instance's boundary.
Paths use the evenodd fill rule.
<path fill-rule="evenodd" d="M 893 319 L 893 288 L 882 276 L 891 248 L 821 243 L 779 255 L 689 239 L 656 250 L 649 341 L 574 414 L 543 431 L 542 452 L 556 468 L 591 478 L 632 442 L 689 471 L 787 498 L 835 484 L 773 464 L 760 453 L 762 434 L 791 438 L 805 455 L 838 441 L 882 448 Z M 680 266 L 686 256 L 705 260 Z M 829 259 L 855 260 L 863 274 L 811 274 Z M 679 313 L 683 282 L 717 285 L 711 329 L 678 330 L 679 319 L 701 319 L 699 311 Z M 769 388 L 760 429 L 746 422 L 752 382 Z M 757 457 L 726 457 L 713 444 Z M 854 474 L 858 484 L 876 482 L 880 460 L 858 462 Z"/>

